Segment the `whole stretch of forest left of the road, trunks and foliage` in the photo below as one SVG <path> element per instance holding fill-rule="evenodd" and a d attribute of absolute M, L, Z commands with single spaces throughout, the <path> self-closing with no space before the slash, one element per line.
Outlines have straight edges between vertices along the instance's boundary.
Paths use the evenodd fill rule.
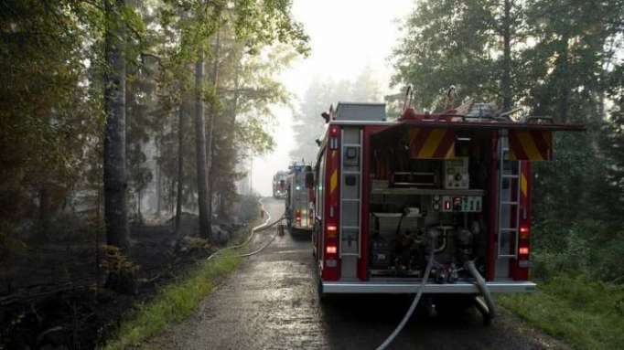
<path fill-rule="evenodd" d="M 9 0 L 0 36 L 0 348 L 48 313 L 92 345 L 98 287 L 153 289 L 257 215 L 239 163 L 274 146 L 307 35 L 282 0 Z"/>

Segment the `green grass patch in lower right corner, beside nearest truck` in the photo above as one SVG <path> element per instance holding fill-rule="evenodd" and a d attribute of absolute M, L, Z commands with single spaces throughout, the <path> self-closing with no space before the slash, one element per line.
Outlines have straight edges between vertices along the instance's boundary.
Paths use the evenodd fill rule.
<path fill-rule="evenodd" d="M 500 295 L 500 304 L 575 349 L 621 349 L 624 286 L 559 276 L 533 294 Z"/>

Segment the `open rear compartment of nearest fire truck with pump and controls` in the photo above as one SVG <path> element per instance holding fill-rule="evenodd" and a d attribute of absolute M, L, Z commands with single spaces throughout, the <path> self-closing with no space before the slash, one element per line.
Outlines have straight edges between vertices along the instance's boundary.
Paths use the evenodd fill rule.
<path fill-rule="evenodd" d="M 434 240 L 430 281 L 471 281 L 488 272 L 490 133 L 456 133 L 455 156 L 416 159 L 401 138 L 371 147 L 368 278 L 418 280 Z"/>

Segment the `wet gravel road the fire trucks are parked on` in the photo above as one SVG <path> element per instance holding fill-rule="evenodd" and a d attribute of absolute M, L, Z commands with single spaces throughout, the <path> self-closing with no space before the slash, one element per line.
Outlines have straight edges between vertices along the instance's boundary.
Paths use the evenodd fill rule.
<path fill-rule="evenodd" d="M 282 201 L 267 199 L 272 217 Z M 274 230 L 259 233 L 260 246 Z M 411 298 L 347 296 L 321 304 L 308 234 L 286 233 L 242 263 L 188 321 L 169 327 L 145 345 L 163 349 L 371 349 L 392 333 Z M 419 310 L 393 349 L 566 348 L 500 310 L 484 326 L 474 309 L 428 316 Z"/>

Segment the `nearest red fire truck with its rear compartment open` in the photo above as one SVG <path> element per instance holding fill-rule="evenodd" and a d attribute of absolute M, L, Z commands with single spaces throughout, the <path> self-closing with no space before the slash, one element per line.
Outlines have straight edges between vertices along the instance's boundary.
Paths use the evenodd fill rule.
<path fill-rule="evenodd" d="M 479 293 L 467 261 L 490 292 L 533 292 L 531 164 L 552 159 L 553 132 L 584 126 L 509 114 L 486 103 L 406 109 L 397 121 L 383 104 L 324 112 L 314 167 L 321 295 L 415 293 L 430 251 L 424 293 Z"/>

